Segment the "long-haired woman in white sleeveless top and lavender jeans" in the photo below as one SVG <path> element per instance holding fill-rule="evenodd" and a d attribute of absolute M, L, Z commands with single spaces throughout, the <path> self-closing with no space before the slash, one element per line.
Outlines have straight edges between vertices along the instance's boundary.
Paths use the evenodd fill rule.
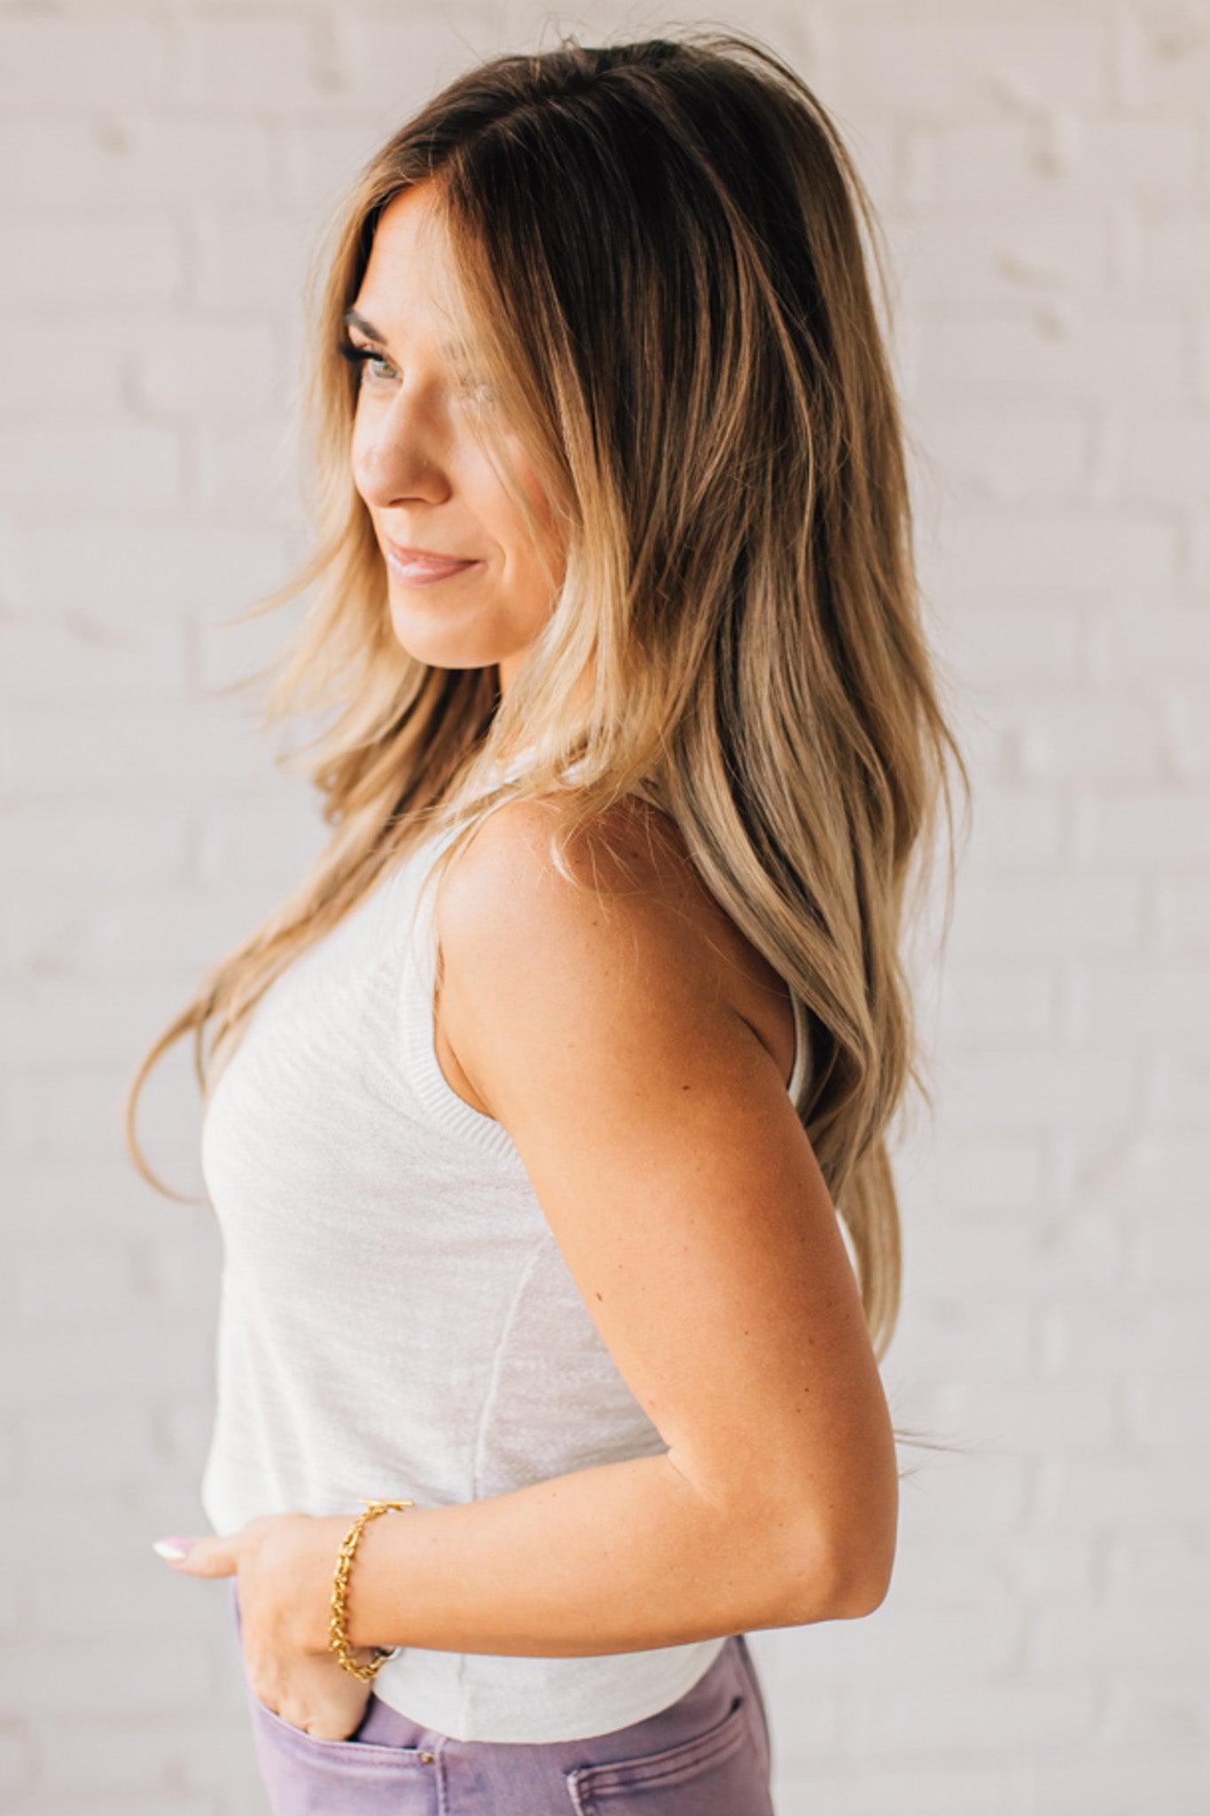
<path fill-rule="evenodd" d="M 147 1171 L 192 1031 L 214 1533 L 158 1549 L 230 1578 L 281 1816 L 758 1816 L 746 1633 L 887 1594 L 961 757 L 862 220 L 804 82 L 686 33 L 468 71 L 334 225 L 268 601 L 317 588 L 268 710 L 334 708 L 332 835 L 127 1100 Z"/>

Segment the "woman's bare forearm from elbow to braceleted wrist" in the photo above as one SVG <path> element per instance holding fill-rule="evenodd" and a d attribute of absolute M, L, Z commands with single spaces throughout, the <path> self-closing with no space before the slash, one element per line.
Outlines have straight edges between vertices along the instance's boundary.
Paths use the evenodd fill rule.
<path fill-rule="evenodd" d="M 403 1491 L 401 1496 L 405 1498 Z M 348 1640 L 568 1658 L 629 1653 L 844 1614 L 805 1520 L 722 1513 L 664 1455 L 506 1495 L 368 1520 Z M 332 1573 L 357 1509 L 310 1522 L 303 1643 L 327 1645 Z M 303 1605 L 305 1604 L 305 1605 Z"/>

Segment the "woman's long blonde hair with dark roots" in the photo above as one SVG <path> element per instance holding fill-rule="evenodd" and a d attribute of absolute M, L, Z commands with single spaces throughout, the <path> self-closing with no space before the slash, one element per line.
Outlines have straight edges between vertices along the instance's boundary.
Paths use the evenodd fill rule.
<path fill-rule="evenodd" d="M 399 645 L 350 474 L 343 316 L 379 212 L 421 182 L 448 232 L 452 309 L 566 534 L 551 614 L 504 696 L 495 665 L 441 670 Z M 192 1030 L 207 1093 L 272 979 L 434 824 L 455 832 L 441 870 L 486 812 L 544 795 L 571 877 L 575 832 L 642 801 L 807 1010 L 796 1110 L 882 1358 L 902 1278 L 889 1131 L 909 1082 L 931 1104 L 907 888 L 923 886 L 943 797 L 952 897 L 947 755 L 967 799 L 971 783 L 922 628 L 862 229 L 885 301 L 880 229 L 834 123 L 742 33 L 495 56 L 361 169 L 308 283 L 316 547 L 254 608 L 317 587 L 265 721 L 336 708 L 308 746 L 332 835 L 143 1057 L 125 1139 L 154 1186 L 169 1189 L 134 1135 L 149 1068 Z M 524 512 L 503 450 L 501 465 Z M 530 761 L 493 779 L 519 743 Z"/>

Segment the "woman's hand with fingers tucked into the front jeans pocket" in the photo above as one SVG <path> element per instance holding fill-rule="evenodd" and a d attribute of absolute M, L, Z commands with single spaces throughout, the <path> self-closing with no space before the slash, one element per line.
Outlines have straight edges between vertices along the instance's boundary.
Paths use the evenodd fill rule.
<path fill-rule="evenodd" d="M 348 1740 L 365 1716 L 370 1683 L 345 1671 L 327 1642 L 317 1649 L 314 1620 L 305 1636 L 303 1616 L 312 1618 L 312 1611 L 299 1611 L 298 1589 L 314 1580 L 314 1525 L 305 1513 L 261 1515 L 223 1538 L 160 1540 L 189 1545 L 183 1556 L 160 1554 L 185 1576 L 234 1574 L 252 1696 L 316 1740 Z M 336 1551 L 332 1558 L 336 1565 Z M 368 1647 L 352 1647 L 352 1654 L 359 1662 L 372 1656 Z"/>

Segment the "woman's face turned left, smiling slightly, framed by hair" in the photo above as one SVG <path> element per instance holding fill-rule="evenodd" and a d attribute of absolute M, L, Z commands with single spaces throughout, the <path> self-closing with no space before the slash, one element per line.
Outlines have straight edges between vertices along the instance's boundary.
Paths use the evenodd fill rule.
<path fill-rule="evenodd" d="M 493 412 L 473 354 L 450 343 L 441 305 L 450 267 L 426 185 L 395 196 L 374 231 L 365 278 L 346 316 L 365 349 L 357 372 L 352 476 L 366 503 L 388 574 L 399 643 L 435 668 L 499 663 L 501 686 L 550 617 L 553 594 L 524 518 L 475 429 L 503 434 L 535 512 L 557 581 L 562 561 L 548 499 L 524 449 Z M 408 570 L 406 554 L 459 558 L 470 567 Z"/>

